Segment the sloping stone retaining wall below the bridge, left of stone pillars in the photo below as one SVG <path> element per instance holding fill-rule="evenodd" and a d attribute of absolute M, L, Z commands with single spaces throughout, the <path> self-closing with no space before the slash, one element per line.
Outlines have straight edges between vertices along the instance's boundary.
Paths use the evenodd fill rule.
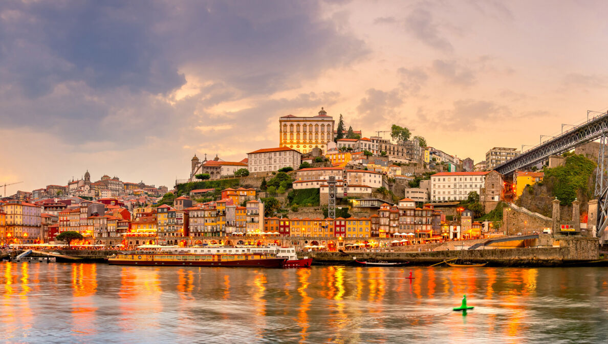
<path fill-rule="evenodd" d="M 502 229 L 506 235 L 542 233 L 545 228 L 551 228 L 553 221 L 547 216 L 530 212 L 525 208 L 511 204 L 502 210 Z"/>

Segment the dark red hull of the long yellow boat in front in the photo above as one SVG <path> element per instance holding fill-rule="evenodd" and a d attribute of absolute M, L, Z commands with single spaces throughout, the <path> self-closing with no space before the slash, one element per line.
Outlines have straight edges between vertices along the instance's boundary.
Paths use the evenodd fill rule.
<path fill-rule="evenodd" d="M 268 258 L 257 260 L 235 261 L 141 261 L 121 260 L 109 258 L 110 265 L 138 265 L 138 266 L 204 266 L 204 267 L 283 267 L 286 258 Z"/>

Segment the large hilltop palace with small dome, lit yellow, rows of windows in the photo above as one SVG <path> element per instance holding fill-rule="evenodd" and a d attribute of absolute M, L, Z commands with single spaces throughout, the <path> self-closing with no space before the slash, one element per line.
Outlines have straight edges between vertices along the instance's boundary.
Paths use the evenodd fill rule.
<path fill-rule="evenodd" d="M 286 115 L 278 120 L 278 146 L 308 153 L 313 148 L 322 151 L 333 142 L 334 119 L 323 108 L 314 117 Z"/>

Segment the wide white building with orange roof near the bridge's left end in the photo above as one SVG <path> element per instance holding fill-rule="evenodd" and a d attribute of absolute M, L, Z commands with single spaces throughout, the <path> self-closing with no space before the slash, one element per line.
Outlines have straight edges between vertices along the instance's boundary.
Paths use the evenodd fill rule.
<path fill-rule="evenodd" d="M 488 172 L 441 172 L 430 176 L 432 201 L 460 201 L 475 191 L 482 194 Z"/>

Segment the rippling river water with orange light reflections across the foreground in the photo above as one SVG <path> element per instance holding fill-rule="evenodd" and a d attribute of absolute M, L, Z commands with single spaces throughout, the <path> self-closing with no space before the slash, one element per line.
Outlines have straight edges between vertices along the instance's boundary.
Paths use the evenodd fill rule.
<path fill-rule="evenodd" d="M 0 295 L 0 343 L 608 342 L 599 267 L 0 263 Z"/>

